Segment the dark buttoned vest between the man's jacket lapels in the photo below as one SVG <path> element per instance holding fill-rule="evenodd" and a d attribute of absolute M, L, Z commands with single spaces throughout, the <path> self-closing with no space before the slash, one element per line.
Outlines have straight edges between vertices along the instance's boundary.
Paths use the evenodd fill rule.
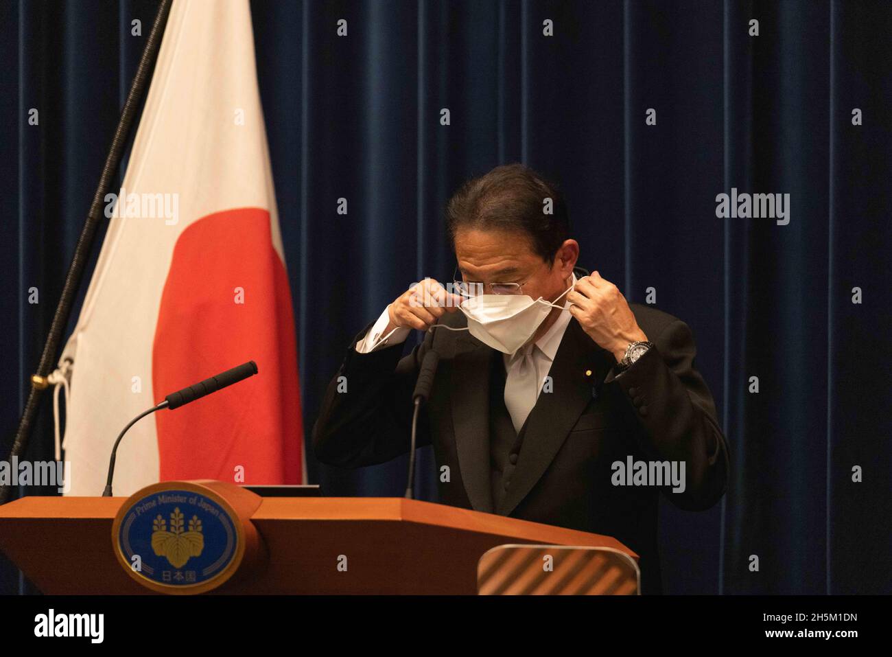
<path fill-rule="evenodd" d="M 511 486 L 511 475 L 524 442 L 525 429 L 526 422 L 519 434 L 514 429 L 511 414 L 505 406 L 505 362 L 501 352 L 494 352 L 490 375 L 490 487 L 493 513 L 499 512 L 502 497 Z"/>

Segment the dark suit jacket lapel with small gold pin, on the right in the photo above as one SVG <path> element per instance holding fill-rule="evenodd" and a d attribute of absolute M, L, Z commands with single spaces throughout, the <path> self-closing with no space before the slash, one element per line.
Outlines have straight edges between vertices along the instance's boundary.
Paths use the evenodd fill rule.
<path fill-rule="evenodd" d="M 604 380 L 613 364 L 612 354 L 586 335 L 578 321 L 570 320 L 549 369 L 553 391 L 539 394 L 526 420 L 517 468 L 496 512 L 507 516 L 539 481 L 591 402 L 592 387 Z M 591 376 L 586 370 L 592 371 Z M 488 463 L 489 455 L 485 456 Z"/>

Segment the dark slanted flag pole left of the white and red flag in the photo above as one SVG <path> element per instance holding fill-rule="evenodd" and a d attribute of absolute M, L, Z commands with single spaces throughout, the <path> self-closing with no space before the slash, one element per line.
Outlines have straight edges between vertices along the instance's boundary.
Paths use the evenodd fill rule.
<path fill-rule="evenodd" d="M 47 377 L 53 371 L 56 352 L 59 349 L 59 342 L 62 339 L 62 331 L 68 325 L 71 314 L 71 304 L 78 292 L 81 280 L 84 278 L 84 268 L 89 259 L 90 250 L 95 238 L 96 228 L 103 217 L 103 199 L 109 192 L 111 180 L 118 171 L 121 157 L 124 152 L 124 145 L 127 143 L 130 129 L 133 127 L 133 120 L 136 117 L 138 106 L 142 104 L 145 87 L 149 81 L 153 71 L 155 61 L 158 57 L 158 48 L 161 46 L 161 37 L 164 34 L 164 27 L 167 25 L 170 13 L 170 4 L 173 0 L 161 0 L 158 7 L 158 13 L 152 24 L 152 31 L 145 42 L 143 54 L 139 58 L 139 66 L 136 68 L 136 75 L 130 84 L 130 91 L 127 100 L 124 102 L 124 108 L 120 113 L 118 127 L 114 131 L 114 137 L 111 139 L 111 147 L 109 153 L 105 157 L 105 165 L 103 166 L 102 175 L 99 177 L 99 184 L 96 186 L 93 195 L 93 203 L 90 204 L 90 210 L 87 212 L 87 221 L 84 222 L 84 228 L 80 231 L 78 243 L 74 248 L 74 256 L 71 258 L 71 264 L 68 273 L 65 276 L 65 285 L 62 287 L 62 295 L 59 298 L 59 304 L 56 306 L 53 316 L 53 323 L 50 325 L 49 334 L 46 336 L 44 350 L 40 355 L 40 362 L 37 365 L 37 373 L 31 376 L 31 388 L 28 395 L 28 401 L 21 413 L 19 420 L 19 428 L 16 429 L 15 438 L 12 441 L 12 450 L 9 454 L 9 462 L 12 457 L 19 457 L 25 452 L 28 446 L 28 437 L 31 426 L 37 416 L 37 404 L 40 401 L 40 395 L 49 387 Z M 9 498 L 12 485 L 0 485 L 0 504 L 6 503 Z"/>

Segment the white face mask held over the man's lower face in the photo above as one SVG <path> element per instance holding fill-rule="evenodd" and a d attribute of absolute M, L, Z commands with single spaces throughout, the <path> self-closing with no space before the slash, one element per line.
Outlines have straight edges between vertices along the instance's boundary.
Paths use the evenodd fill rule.
<path fill-rule="evenodd" d="M 567 287 L 558 299 L 573 289 Z M 557 301 L 558 299 L 555 299 Z M 477 295 L 458 306 L 467 317 L 467 330 L 484 345 L 502 353 L 515 353 L 533 337 L 552 308 L 541 296 L 533 300 L 529 295 Z"/>

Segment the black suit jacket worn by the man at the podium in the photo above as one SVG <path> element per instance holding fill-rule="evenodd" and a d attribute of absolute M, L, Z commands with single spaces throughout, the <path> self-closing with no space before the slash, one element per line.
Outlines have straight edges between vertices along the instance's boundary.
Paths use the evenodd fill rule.
<path fill-rule="evenodd" d="M 583 274 L 584 275 L 584 274 Z M 700 511 L 724 494 L 728 450 L 706 383 L 694 366 L 690 328 L 665 312 L 630 304 L 654 347 L 618 376 L 612 353 L 572 319 L 525 425 L 510 487 L 494 509 L 490 487 L 489 379 L 501 353 L 467 331 L 434 328 L 432 339 L 402 357 L 402 345 L 357 353 L 353 340 L 326 391 L 313 449 L 320 462 L 358 468 L 409 451 L 411 395 L 427 349 L 440 364 L 419 416 L 417 444 L 433 445 L 442 503 L 581 529 L 628 545 L 640 556 L 642 593 L 660 593 L 657 502 Z M 467 326 L 461 312 L 441 323 Z M 345 377 L 340 379 L 340 377 Z M 339 383 L 346 392 L 338 392 Z M 343 387 L 342 387 L 343 389 Z M 686 488 L 616 487 L 611 464 L 685 462 Z"/>

